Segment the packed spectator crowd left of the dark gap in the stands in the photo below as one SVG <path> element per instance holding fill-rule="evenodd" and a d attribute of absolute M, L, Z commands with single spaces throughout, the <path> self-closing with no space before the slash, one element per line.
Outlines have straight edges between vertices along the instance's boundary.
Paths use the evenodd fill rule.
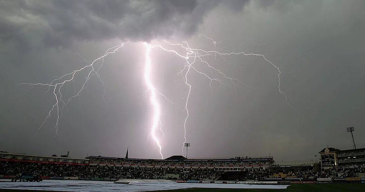
<path fill-rule="evenodd" d="M 214 180 L 222 171 L 216 169 L 181 169 L 131 166 L 82 166 L 43 163 L 0 162 L 0 175 L 41 175 L 43 177 L 183 179 Z M 170 176 L 166 176 L 166 174 Z"/>

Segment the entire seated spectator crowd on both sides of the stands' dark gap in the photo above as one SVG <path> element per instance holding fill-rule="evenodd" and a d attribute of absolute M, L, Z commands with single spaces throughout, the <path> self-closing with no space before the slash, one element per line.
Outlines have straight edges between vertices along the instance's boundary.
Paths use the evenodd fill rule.
<path fill-rule="evenodd" d="M 280 174 L 279 174 L 280 172 Z M 332 169 L 296 170 L 254 170 L 246 172 L 241 181 L 261 181 L 268 177 L 300 178 L 344 178 L 359 177 L 365 173 L 365 165 L 338 166 Z M 223 171 L 208 168 L 168 168 L 131 166 L 83 166 L 57 165 L 25 162 L 0 162 L 0 175 L 41 175 L 43 177 L 115 178 L 115 179 L 171 179 L 171 180 L 217 180 Z"/>

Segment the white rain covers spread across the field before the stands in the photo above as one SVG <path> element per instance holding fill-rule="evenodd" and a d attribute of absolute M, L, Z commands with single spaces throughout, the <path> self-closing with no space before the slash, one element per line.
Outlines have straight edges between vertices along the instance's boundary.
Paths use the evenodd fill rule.
<path fill-rule="evenodd" d="M 1 181 L 1 180 L 0 180 Z M 9 181 L 9 180 L 3 180 Z M 250 184 L 204 184 L 176 182 L 138 182 L 118 184 L 108 181 L 72 181 L 72 180 L 43 180 L 42 182 L 0 182 L 0 189 L 28 189 L 47 191 L 72 192 L 139 192 L 159 191 L 185 188 L 241 188 L 241 189 L 286 189 L 288 185 L 250 185 Z"/>

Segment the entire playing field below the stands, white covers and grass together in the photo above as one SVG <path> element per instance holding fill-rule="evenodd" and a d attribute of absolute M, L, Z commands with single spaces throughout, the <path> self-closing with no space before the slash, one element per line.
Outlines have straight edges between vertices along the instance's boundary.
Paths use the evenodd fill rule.
<path fill-rule="evenodd" d="M 181 189 L 183 188 L 183 189 Z M 230 189 L 227 189 L 230 188 Z M 269 188 L 269 189 L 268 189 Z M 168 189 L 168 190 L 164 190 Z M 0 182 L 0 192 L 365 192 L 365 184 L 114 184 L 103 181 L 50 181 L 42 182 Z"/>

